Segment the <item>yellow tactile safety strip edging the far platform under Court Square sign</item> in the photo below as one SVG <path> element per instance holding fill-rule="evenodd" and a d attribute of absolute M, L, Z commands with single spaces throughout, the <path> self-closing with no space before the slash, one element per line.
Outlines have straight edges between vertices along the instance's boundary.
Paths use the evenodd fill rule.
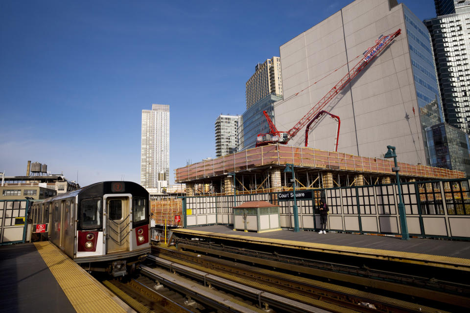
<path fill-rule="evenodd" d="M 301 241 L 272 239 L 272 238 L 258 238 L 242 235 L 231 235 L 223 233 L 214 233 L 202 230 L 190 230 L 190 229 L 178 229 L 173 230 L 173 233 L 184 233 L 199 235 L 208 238 L 228 239 L 233 241 L 251 242 L 255 244 L 271 245 L 271 246 L 291 246 L 293 248 L 302 250 L 311 250 L 317 252 L 335 253 L 341 255 L 350 255 L 357 257 L 367 257 L 373 259 L 382 259 L 395 262 L 405 262 L 412 264 L 420 264 L 427 266 L 434 266 L 440 268 L 452 268 L 470 271 L 470 259 L 455 258 L 448 256 L 403 252 L 394 250 L 383 250 L 383 249 L 372 249 L 372 248 L 361 248 L 352 246 L 335 246 L 328 244 L 316 244 Z"/>

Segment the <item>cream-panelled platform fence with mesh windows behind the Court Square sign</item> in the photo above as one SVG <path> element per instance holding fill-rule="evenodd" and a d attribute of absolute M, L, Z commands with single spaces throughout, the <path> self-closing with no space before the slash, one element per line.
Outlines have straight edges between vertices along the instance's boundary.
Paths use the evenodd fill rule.
<path fill-rule="evenodd" d="M 411 236 L 470 240 L 468 179 L 403 182 L 401 191 Z M 303 230 L 318 230 L 318 204 L 324 199 L 329 205 L 329 231 L 401 234 L 396 184 L 313 189 L 312 195 L 312 199 L 297 201 L 299 226 Z M 235 195 L 235 204 L 234 195 L 184 197 L 184 201 L 186 226 L 233 225 L 234 205 L 266 201 L 279 205 L 282 228 L 294 227 L 294 201 L 278 201 L 276 192 Z"/>

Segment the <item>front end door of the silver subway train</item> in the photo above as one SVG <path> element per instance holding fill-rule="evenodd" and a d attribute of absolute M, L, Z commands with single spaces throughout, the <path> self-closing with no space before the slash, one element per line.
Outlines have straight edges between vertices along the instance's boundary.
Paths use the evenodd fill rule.
<path fill-rule="evenodd" d="M 108 197 L 106 211 L 106 253 L 129 250 L 129 197 Z"/>

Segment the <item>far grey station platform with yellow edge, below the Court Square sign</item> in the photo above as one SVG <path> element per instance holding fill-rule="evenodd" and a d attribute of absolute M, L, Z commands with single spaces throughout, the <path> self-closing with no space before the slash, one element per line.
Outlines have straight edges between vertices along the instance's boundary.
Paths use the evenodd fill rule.
<path fill-rule="evenodd" d="M 314 231 L 234 231 L 232 226 L 211 225 L 173 229 L 176 236 L 197 236 L 249 244 L 280 246 L 304 251 L 372 258 L 470 271 L 470 243 L 435 239 L 359 235 Z"/>

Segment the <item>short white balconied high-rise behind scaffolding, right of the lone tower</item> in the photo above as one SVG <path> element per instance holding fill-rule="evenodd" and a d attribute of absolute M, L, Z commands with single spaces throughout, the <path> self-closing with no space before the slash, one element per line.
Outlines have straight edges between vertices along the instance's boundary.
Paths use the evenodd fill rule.
<path fill-rule="evenodd" d="M 217 157 L 236 152 L 239 118 L 240 115 L 220 114 L 215 120 L 215 155 Z"/>

